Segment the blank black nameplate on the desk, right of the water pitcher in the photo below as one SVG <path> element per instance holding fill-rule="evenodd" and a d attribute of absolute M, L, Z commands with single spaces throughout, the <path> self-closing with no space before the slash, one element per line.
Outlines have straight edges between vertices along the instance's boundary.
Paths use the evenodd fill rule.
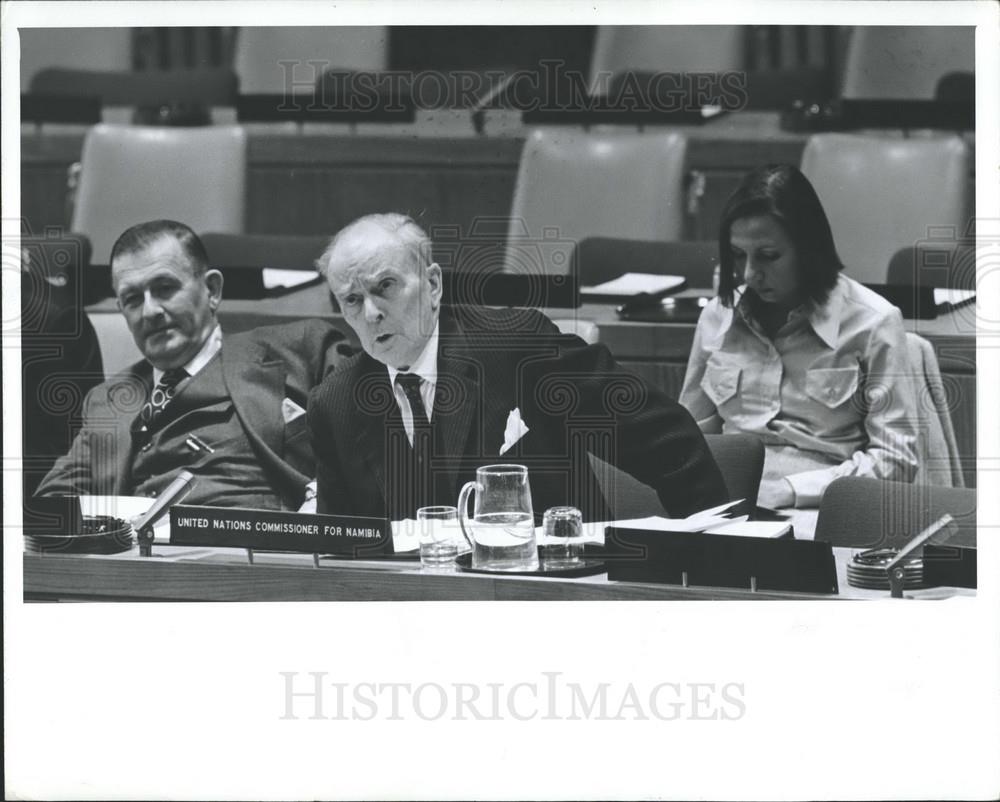
<path fill-rule="evenodd" d="M 838 592 L 829 543 L 812 540 L 652 532 L 609 526 L 608 579 L 670 585 Z"/>

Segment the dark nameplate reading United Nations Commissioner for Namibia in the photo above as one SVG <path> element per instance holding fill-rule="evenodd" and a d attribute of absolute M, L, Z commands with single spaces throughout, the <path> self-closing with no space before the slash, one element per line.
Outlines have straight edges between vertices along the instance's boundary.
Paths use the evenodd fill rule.
<path fill-rule="evenodd" d="M 176 504 L 170 545 L 378 557 L 392 553 L 392 529 L 385 518 Z"/>

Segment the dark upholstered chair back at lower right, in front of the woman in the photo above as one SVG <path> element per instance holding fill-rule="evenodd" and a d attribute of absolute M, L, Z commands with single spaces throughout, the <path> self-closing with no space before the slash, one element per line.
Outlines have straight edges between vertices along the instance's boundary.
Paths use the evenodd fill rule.
<path fill-rule="evenodd" d="M 823 495 L 816 540 L 858 549 L 899 548 L 945 513 L 958 524 L 953 545 L 976 542 L 976 491 L 845 476 Z"/>

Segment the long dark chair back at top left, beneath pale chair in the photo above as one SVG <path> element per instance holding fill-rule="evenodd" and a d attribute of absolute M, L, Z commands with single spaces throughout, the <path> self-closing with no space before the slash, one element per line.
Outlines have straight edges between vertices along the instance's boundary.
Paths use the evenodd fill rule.
<path fill-rule="evenodd" d="M 48 67 L 31 80 L 43 95 L 94 96 L 104 106 L 157 107 L 186 104 L 233 106 L 236 73 L 228 67 L 183 70 L 84 70 Z"/>

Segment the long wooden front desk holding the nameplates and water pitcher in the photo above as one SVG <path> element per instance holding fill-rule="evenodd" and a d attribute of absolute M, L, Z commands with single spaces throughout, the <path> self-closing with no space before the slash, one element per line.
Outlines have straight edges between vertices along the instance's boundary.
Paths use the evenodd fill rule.
<path fill-rule="evenodd" d="M 414 560 L 346 561 L 237 549 L 154 547 L 113 555 L 24 555 L 24 598 L 77 601 L 666 601 L 885 599 L 888 591 L 853 588 L 846 566 L 853 550 L 834 548 L 839 595 L 678 587 L 611 582 L 606 574 L 575 579 L 422 571 Z M 930 588 L 914 598 L 975 595 Z"/>

